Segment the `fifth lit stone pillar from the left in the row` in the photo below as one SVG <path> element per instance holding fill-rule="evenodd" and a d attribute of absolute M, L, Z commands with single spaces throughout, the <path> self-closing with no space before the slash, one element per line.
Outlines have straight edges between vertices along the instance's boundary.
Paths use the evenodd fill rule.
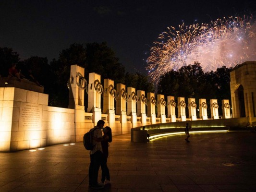
<path fill-rule="evenodd" d="M 131 116 L 131 121 L 134 127 L 137 124 L 136 103 L 138 101 L 138 97 L 135 94 L 135 88 L 128 87 L 127 95 L 127 115 Z"/>

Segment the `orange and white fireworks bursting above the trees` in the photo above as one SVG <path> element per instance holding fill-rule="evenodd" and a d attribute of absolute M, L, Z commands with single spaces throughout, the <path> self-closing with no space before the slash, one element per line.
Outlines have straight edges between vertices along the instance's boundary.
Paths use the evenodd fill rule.
<path fill-rule="evenodd" d="M 252 17 L 228 17 L 210 24 L 179 25 L 159 35 L 146 69 L 155 83 L 171 70 L 201 63 L 205 72 L 256 60 L 256 24 Z"/>

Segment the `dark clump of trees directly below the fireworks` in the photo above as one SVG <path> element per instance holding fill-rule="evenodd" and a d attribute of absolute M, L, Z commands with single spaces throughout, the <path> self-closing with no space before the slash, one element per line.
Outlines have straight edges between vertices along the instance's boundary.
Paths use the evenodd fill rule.
<path fill-rule="evenodd" d="M 215 72 L 203 72 L 200 63 L 183 66 L 178 71 L 171 70 L 161 77 L 158 84 L 158 94 L 177 97 L 195 98 L 197 108 L 199 98 L 207 99 L 207 114 L 210 115 L 210 99 L 218 99 L 219 114 L 222 114 L 221 100 L 229 99 L 230 93 L 230 72 L 232 68 L 225 66 L 218 68 Z M 199 117 L 199 111 L 197 111 Z M 188 116 L 188 110 L 186 109 Z"/>

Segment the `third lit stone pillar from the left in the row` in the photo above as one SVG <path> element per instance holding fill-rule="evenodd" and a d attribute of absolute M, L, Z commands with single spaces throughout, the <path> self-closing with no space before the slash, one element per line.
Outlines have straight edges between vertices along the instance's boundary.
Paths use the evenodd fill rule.
<path fill-rule="evenodd" d="M 104 92 L 103 92 L 103 113 L 108 114 L 107 120 L 109 126 L 112 127 L 115 123 L 115 107 L 114 100 L 117 92 L 114 88 L 114 81 L 111 79 L 104 79 Z"/>

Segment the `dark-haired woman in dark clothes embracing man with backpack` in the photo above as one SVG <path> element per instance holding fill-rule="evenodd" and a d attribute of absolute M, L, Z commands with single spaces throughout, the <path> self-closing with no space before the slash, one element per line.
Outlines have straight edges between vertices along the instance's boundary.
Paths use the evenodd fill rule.
<path fill-rule="evenodd" d="M 102 161 L 100 164 L 101 167 L 101 184 L 110 184 L 110 170 L 107 166 L 108 156 L 109 156 L 109 143 L 112 142 L 112 131 L 110 127 L 103 128 L 103 141 L 101 142 L 102 146 Z"/>

